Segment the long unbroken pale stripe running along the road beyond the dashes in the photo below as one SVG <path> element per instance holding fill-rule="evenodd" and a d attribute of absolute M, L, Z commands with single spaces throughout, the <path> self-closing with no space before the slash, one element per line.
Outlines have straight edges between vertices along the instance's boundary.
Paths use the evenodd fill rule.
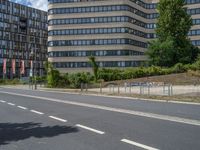
<path fill-rule="evenodd" d="M 0 91 L 0 93 L 23 96 L 23 97 L 30 97 L 30 98 L 34 98 L 35 100 L 40 99 L 40 100 L 46 100 L 46 101 L 70 104 L 70 105 L 75 105 L 75 106 L 81 106 L 81 107 L 87 107 L 87 108 L 95 108 L 95 109 L 100 109 L 100 110 L 107 110 L 107 111 L 111 111 L 111 112 L 124 113 L 124 114 L 129 114 L 129 115 L 140 116 L 140 117 L 154 118 L 154 119 L 171 121 L 171 122 L 176 122 L 176 123 L 200 126 L 200 120 L 195 120 L 195 119 L 187 119 L 187 118 L 169 116 L 169 115 L 160 115 L 160 114 L 155 114 L 155 113 L 147 113 L 147 112 L 134 111 L 134 110 L 128 110 L 128 109 L 121 109 L 121 108 L 112 108 L 112 107 L 101 106 L 101 105 L 73 102 L 73 101 L 67 101 L 67 100 L 61 100 L 61 99 L 53 99 L 53 98 L 33 96 L 33 95 L 26 95 L 26 94 L 19 94 L 19 93 L 13 93 L 13 92 Z"/>

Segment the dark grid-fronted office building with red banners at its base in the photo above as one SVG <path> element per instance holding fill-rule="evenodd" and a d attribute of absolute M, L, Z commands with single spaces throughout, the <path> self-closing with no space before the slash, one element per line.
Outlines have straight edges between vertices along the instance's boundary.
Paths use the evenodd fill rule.
<path fill-rule="evenodd" d="M 0 0 L 0 78 L 44 74 L 47 12 Z"/>

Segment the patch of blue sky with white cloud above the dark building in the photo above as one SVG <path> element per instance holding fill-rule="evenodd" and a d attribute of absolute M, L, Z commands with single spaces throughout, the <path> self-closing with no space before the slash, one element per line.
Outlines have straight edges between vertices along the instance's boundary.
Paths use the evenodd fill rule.
<path fill-rule="evenodd" d="M 47 11 L 47 5 L 48 5 L 47 0 L 11 0 L 11 1 Z"/>

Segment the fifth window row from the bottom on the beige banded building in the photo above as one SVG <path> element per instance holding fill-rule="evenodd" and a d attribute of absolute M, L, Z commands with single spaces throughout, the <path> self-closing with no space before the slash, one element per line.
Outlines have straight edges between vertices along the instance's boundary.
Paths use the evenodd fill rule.
<path fill-rule="evenodd" d="M 144 28 L 146 27 L 146 24 L 144 22 L 128 16 L 52 19 L 49 20 L 49 25 L 111 23 L 111 22 L 130 22 L 137 26 L 141 26 Z"/>

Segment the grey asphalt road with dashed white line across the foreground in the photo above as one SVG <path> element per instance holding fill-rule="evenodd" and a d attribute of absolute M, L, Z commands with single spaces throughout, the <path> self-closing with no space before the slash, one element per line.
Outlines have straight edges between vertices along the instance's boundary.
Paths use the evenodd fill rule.
<path fill-rule="evenodd" d="M 0 88 L 0 150 L 199 150 L 200 105 Z"/>

